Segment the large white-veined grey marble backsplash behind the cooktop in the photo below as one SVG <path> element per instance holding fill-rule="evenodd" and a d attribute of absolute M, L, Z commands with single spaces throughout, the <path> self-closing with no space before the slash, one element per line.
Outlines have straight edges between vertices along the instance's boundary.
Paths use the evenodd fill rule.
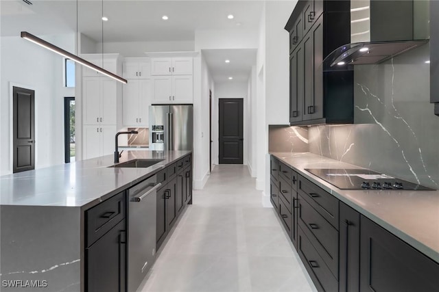
<path fill-rule="evenodd" d="M 355 124 L 309 127 L 309 151 L 439 189 L 429 46 L 355 66 Z"/>

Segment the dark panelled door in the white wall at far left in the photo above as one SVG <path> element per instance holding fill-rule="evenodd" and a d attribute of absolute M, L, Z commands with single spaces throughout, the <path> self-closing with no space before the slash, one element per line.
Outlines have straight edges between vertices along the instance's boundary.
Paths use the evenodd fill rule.
<path fill-rule="evenodd" d="M 35 92 L 14 87 L 12 172 L 35 168 Z"/>

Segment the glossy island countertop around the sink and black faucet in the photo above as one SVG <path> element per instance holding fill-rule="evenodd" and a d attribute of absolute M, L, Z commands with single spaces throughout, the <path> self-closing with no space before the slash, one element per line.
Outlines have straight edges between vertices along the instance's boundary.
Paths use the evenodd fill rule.
<path fill-rule="evenodd" d="M 149 168 L 108 168 L 112 155 L 0 176 L 0 205 L 88 209 L 143 181 L 191 151 L 123 151 L 120 163 L 163 159 Z"/>

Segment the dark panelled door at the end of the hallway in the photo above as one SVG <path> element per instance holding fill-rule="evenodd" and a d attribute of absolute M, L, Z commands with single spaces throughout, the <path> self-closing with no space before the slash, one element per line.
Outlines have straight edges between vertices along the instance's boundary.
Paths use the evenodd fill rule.
<path fill-rule="evenodd" d="M 242 98 L 219 99 L 219 164 L 242 164 L 243 105 Z"/>

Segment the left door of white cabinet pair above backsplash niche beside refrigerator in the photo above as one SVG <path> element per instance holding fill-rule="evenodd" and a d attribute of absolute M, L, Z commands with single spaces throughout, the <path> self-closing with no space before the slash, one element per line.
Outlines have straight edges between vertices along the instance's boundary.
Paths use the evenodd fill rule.
<path fill-rule="evenodd" d="M 139 82 L 141 80 L 129 79 L 123 84 L 123 125 L 136 126 L 139 122 Z"/>

